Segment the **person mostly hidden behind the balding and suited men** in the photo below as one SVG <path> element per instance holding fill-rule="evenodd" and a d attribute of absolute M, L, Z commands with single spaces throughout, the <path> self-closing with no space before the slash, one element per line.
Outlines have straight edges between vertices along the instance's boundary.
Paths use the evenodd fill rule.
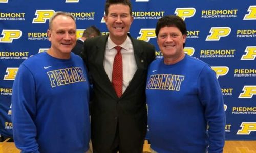
<path fill-rule="evenodd" d="M 83 42 L 87 38 L 97 37 L 100 36 L 100 31 L 95 26 L 87 27 L 86 30 L 83 31 L 82 37 L 80 39 L 77 39 L 76 45 L 73 48 L 72 52 L 80 55 L 83 48 Z"/>

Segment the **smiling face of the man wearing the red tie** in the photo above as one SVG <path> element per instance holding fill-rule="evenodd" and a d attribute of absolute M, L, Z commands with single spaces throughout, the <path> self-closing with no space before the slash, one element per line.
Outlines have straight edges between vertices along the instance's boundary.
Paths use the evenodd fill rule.
<path fill-rule="evenodd" d="M 114 40 L 125 40 L 133 22 L 129 6 L 112 4 L 109 6 L 108 10 L 109 13 L 104 16 L 104 19 L 110 32 L 110 38 Z"/>

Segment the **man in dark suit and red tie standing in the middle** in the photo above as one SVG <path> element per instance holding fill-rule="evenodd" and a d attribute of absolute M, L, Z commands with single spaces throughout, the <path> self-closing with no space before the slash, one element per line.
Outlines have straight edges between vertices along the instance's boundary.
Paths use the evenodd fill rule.
<path fill-rule="evenodd" d="M 145 82 L 148 64 L 155 59 L 155 47 L 128 34 L 133 21 L 129 0 L 108 0 L 105 13 L 109 35 L 87 39 L 81 54 L 94 87 L 93 152 L 141 153 L 147 126 Z M 120 53 L 122 71 L 116 74 L 114 67 Z M 121 85 L 115 80 L 120 75 Z"/>

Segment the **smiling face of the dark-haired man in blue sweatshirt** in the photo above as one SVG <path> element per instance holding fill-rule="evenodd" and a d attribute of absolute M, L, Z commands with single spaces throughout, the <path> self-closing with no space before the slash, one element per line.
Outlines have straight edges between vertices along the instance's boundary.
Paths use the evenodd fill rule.
<path fill-rule="evenodd" d="M 184 54 L 183 43 L 186 35 L 182 35 L 177 27 L 162 27 L 159 31 L 157 44 L 164 58 L 178 58 Z"/>

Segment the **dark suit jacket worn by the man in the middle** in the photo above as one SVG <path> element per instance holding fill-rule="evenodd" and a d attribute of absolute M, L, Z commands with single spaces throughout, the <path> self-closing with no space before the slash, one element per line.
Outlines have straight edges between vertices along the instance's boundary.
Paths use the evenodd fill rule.
<path fill-rule="evenodd" d="M 91 130 L 93 149 L 111 147 L 117 128 L 126 148 L 143 147 L 147 127 L 145 85 L 148 65 L 155 59 L 155 47 L 129 35 L 137 64 L 129 86 L 118 98 L 103 66 L 108 35 L 86 39 L 82 58 L 93 83 Z M 135 152 L 135 151 L 132 151 Z M 139 152 L 139 151 L 136 151 Z M 141 152 L 141 150 L 140 150 Z"/>

